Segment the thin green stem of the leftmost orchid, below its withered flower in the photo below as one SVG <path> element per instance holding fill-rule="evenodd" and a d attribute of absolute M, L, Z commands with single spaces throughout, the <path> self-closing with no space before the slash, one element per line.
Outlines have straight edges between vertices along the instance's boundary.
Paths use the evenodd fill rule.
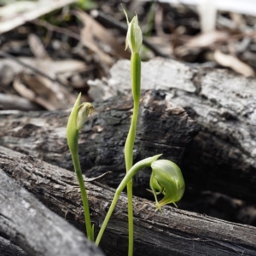
<path fill-rule="evenodd" d="M 76 131 L 76 136 L 74 138 L 75 145 L 73 147 L 73 150 L 71 151 L 72 160 L 73 160 L 73 166 L 75 169 L 75 172 L 77 174 L 77 177 L 79 179 L 79 186 L 81 189 L 81 195 L 82 195 L 82 201 L 84 206 L 84 219 L 85 219 L 85 228 L 87 233 L 87 238 L 90 241 L 93 241 L 93 234 L 92 234 L 92 228 L 90 223 L 90 210 L 89 210 L 89 203 L 87 199 L 86 189 L 84 186 L 84 178 L 82 176 L 80 161 L 79 161 L 79 131 Z"/>

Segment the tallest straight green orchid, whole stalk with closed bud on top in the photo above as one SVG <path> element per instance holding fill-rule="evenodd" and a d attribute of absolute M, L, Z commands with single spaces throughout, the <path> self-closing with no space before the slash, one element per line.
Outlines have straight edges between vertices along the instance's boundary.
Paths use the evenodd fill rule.
<path fill-rule="evenodd" d="M 125 9 L 124 9 L 125 12 Z M 125 167 L 129 172 L 133 165 L 133 148 L 136 136 L 137 117 L 139 113 L 139 102 L 141 92 L 141 58 L 139 51 L 143 44 L 143 35 L 138 26 L 137 15 L 129 23 L 128 16 L 125 12 L 128 31 L 126 36 L 125 49 L 131 49 L 131 90 L 133 96 L 133 114 L 131 118 L 130 131 L 125 142 Z M 132 208 L 132 179 L 127 183 L 128 197 L 128 229 L 129 229 L 129 247 L 128 255 L 133 254 L 133 208 Z"/>

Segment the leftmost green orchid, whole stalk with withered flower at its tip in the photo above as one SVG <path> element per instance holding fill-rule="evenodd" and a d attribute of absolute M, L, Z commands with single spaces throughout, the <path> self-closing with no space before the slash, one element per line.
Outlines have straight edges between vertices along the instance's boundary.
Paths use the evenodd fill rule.
<path fill-rule="evenodd" d="M 94 241 L 94 227 L 90 223 L 90 210 L 87 199 L 84 178 L 82 176 L 80 161 L 79 161 L 79 131 L 84 125 L 88 115 L 93 112 L 94 108 L 90 103 L 84 102 L 79 106 L 81 94 L 73 106 L 67 122 L 67 144 L 72 155 L 73 166 L 79 179 L 79 187 L 81 190 L 82 201 L 84 206 L 84 220 L 87 238 Z"/>

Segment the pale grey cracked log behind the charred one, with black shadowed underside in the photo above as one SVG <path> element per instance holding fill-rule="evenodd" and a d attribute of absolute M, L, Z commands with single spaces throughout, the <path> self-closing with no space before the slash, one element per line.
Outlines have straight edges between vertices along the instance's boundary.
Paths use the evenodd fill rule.
<path fill-rule="evenodd" d="M 111 70 L 106 90 L 130 90 L 130 63 Z M 256 79 L 227 70 L 191 68 L 156 58 L 143 63 L 142 89 L 162 90 L 201 131 L 183 157 L 187 189 L 212 190 L 256 201 Z"/>

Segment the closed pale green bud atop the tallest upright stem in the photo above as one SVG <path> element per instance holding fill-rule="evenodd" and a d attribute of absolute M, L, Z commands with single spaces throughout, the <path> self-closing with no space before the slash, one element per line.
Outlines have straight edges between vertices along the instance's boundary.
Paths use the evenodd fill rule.
<path fill-rule="evenodd" d="M 127 49 L 129 46 L 129 48 L 131 49 L 131 53 L 139 53 L 143 44 L 143 33 L 141 28 L 138 26 L 137 14 L 132 18 L 131 22 L 129 23 L 128 15 L 125 12 L 124 8 L 123 10 L 128 24 L 125 49 Z"/>

